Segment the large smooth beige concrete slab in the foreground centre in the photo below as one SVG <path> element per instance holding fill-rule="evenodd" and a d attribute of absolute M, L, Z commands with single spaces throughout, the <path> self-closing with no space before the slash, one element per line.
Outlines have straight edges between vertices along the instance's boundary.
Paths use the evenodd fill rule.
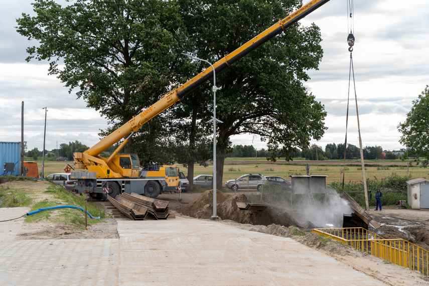
<path fill-rule="evenodd" d="M 381 284 L 292 239 L 213 221 L 118 220 L 120 285 Z"/>

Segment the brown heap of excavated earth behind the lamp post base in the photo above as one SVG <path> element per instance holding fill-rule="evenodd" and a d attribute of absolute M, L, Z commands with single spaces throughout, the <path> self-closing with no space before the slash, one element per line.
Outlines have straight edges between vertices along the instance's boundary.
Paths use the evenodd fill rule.
<path fill-rule="evenodd" d="M 216 202 L 216 214 L 222 220 L 229 219 L 239 223 L 265 226 L 273 223 L 283 226 L 298 225 L 297 221 L 289 214 L 280 214 L 272 208 L 261 211 L 240 210 L 237 207 L 237 202 L 250 203 L 243 194 L 230 196 L 218 190 Z M 178 212 L 195 218 L 209 219 L 213 215 L 213 190 L 205 191 L 186 207 L 178 209 Z"/>

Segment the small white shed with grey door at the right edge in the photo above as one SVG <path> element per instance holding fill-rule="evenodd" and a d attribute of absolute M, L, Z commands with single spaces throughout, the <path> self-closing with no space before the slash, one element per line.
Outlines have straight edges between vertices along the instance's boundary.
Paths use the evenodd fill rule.
<path fill-rule="evenodd" d="M 406 183 L 408 205 L 412 209 L 429 209 L 429 180 L 417 178 Z"/>

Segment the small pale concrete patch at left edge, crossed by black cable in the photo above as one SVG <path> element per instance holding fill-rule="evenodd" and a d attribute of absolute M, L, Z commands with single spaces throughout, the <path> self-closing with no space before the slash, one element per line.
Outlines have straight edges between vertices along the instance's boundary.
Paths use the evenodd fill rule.
<path fill-rule="evenodd" d="M 9 220 L 18 218 L 23 214 L 30 211 L 30 208 L 0 208 L 0 220 Z M 24 222 L 24 217 L 0 222 L 0 241 L 2 240 L 13 240 L 17 233 L 20 231 L 21 226 Z"/>

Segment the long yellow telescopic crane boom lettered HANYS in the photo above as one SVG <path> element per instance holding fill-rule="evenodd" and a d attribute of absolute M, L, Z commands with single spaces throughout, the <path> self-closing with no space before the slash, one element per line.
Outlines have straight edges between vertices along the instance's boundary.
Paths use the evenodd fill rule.
<path fill-rule="evenodd" d="M 247 43 L 237 48 L 232 53 L 224 56 L 222 59 L 213 64 L 216 73 L 225 70 L 233 63 L 235 63 L 251 51 L 255 50 L 257 47 L 264 44 L 268 40 L 272 39 L 276 35 L 280 34 L 283 30 L 287 29 L 289 26 L 298 22 L 300 19 L 312 13 L 327 2 L 329 2 L 329 0 L 310 1 L 288 17 L 278 21 L 277 23 L 275 23 L 250 41 L 248 41 Z M 125 137 L 127 134 L 133 131 L 137 131 L 143 124 L 163 112 L 165 109 L 172 106 L 174 103 L 182 99 L 185 95 L 187 95 L 192 90 L 194 90 L 207 80 L 211 79 L 212 77 L 213 69 L 211 67 L 205 69 L 180 87 L 164 95 L 154 105 L 150 106 L 137 116 L 133 117 L 131 120 L 129 120 L 121 127 L 107 135 L 100 142 L 98 142 L 96 145 L 94 145 L 84 153 L 88 154 L 89 156 L 98 156 L 99 154 L 101 154 L 101 152 L 103 152 L 113 144 L 116 144 L 116 142 Z"/>

